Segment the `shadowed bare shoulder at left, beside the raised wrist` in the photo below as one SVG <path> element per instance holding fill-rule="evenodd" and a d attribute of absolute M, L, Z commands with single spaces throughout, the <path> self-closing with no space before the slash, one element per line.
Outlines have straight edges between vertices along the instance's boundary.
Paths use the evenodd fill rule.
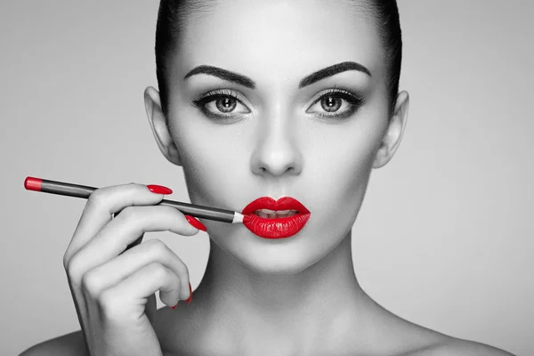
<path fill-rule="evenodd" d="M 85 339 L 81 330 L 59 336 L 30 347 L 19 356 L 86 356 Z"/>

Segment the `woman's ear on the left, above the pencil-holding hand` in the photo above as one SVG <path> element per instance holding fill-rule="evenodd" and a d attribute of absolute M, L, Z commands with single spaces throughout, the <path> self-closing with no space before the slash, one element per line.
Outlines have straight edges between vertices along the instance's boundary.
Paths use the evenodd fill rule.
<path fill-rule="evenodd" d="M 150 127 L 154 138 L 158 143 L 159 150 L 171 163 L 176 166 L 182 166 L 182 158 L 180 158 L 180 152 L 173 141 L 173 136 L 169 133 L 168 126 L 166 125 L 165 115 L 163 109 L 161 109 L 161 101 L 159 93 L 156 89 L 149 86 L 144 92 L 145 109 L 147 111 L 147 117 L 149 118 Z"/>

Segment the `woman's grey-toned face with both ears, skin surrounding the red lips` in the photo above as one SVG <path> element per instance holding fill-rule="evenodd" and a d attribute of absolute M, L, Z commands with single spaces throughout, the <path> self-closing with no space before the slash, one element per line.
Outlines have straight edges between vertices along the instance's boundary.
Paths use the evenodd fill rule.
<path fill-rule="evenodd" d="M 202 221 L 254 271 L 294 273 L 331 252 L 352 228 L 371 169 L 400 141 L 405 115 L 388 116 L 373 19 L 353 2 L 233 0 L 185 24 L 167 73 L 168 131 L 158 105 L 149 117 L 191 201 L 241 212 L 259 197 L 292 197 L 311 212 L 287 239 Z M 198 66 L 217 70 L 190 72 Z"/>

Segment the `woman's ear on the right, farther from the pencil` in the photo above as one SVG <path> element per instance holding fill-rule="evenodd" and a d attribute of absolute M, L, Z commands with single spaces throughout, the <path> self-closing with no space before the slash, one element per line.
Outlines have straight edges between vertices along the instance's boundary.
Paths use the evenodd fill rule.
<path fill-rule="evenodd" d="M 397 95 L 397 102 L 382 144 L 376 151 L 373 168 L 380 168 L 392 159 L 401 144 L 402 134 L 408 120 L 409 94 L 401 92 Z"/>

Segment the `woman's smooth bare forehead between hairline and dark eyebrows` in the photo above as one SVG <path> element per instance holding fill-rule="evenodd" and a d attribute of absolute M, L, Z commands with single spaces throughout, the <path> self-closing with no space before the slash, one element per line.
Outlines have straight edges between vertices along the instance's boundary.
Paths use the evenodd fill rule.
<path fill-rule="evenodd" d="M 343 61 L 378 75 L 383 67 L 375 20 L 355 1 L 212 1 L 184 25 L 176 61 L 181 73 L 207 64 L 261 82 Z"/>

